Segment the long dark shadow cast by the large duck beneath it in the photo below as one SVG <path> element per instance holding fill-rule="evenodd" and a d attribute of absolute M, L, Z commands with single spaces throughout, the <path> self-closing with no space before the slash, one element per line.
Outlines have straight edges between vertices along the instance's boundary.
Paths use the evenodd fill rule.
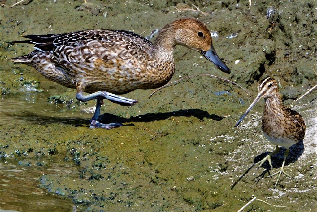
<path fill-rule="evenodd" d="M 88 124 L 88 119 L 83 119 L 83 118 L 72 118 L 72 117 L 60 117 L 60 116 L 43 116 L 43 115 L 38 115 L 35 113 L 31 112 L 23 112 L 23 114 L 17 115 L 10 115 L 7 114 L 8 116 L 14 116 L 15 119 L 20 119 L 25 122 L 31 122 L 34 124 L 40 124 L 40 125 L 45 125 L 45 124 L 52 124 L 52 123 L 60 123 L 60 124 L 66 124 L 66 125 L 74 125 L 74 126 L 87 126 L 89 127 Z M 99 117 L 99 120 L 101 123 L 113 123 L 113 122 L 119 122 L 119 123 L 129 123 L 127 125 L 133 125 L 133 122 L 152 122 L 152 121 L 159 121 L 159 120 L 165 120 L 168 119 L 169 117 L 174 116 L 185 116 L 185 117 L 190 117 L 194 116 L 200 121 L 203 121 L 204 118 L 207 119 L 212 119 L 216 121 L 222 120 L 223 116 L 218 116 L 215 114 L 209 114 L 205 110 L 201 109 L 181 109 L 177 111 L 172 111 L 172 112 L 159 112 L 159 113 L 147 113 L 144 115 L 138 115 L 136 117 L 131 116 L 130 118 L 124 118 L 120 117 L 117 115 L 105 113 Z"/>

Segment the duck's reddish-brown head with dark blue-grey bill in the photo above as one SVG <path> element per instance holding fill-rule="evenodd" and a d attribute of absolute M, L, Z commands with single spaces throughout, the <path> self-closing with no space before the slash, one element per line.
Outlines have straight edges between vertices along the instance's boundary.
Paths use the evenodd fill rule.
<path fill-rule="evenodd" d="M 217 68 L 230 74 L 230 69 L 218 57 L 213 45 L 210 31 L 194 18 L 183 18 L 171 23 L 176 29 L 176 44 L 198 51 Z"/>

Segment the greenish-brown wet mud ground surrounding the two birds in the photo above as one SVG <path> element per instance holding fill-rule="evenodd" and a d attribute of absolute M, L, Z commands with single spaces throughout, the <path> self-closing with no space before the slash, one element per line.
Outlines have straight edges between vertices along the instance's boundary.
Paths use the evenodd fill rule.
<path fill-rule="evenodd" d="M 286 160 L 293 179 L 282 175 L 276 189 L 276 177 L 266 176 L 281 167 L 285 148 L 272 157 L 273 169 L 267 162 L 251 168 L 275 149 L 261 131 L 264 103 L 234 128 L 264 77 L 280 83 L 285 105 L 317 83 L 315 1 L 252 1 L 250 9 L 248 1 L 231 0 L 88 2 L 25 1 L 12 8 L 15 1 L 1 2 L 2 163 L 40 170 L 34 174 L 40 188 L 68 198 L 79 211 L 237 211 L 253 197 L 287 208 L 254 201 L 245 211 L 316 210 L 317 91 L 294 104 L 306 136 Z M 193 77 L 151 98 L 153 90 L 123 95 L 139 101 L 131 107 L 105 102 L 101 121 L 124 126 L 89 129 L 94 101 L 80 103 L 75 90 L 8 61 L 32 51 L 32 45 L 7 43 L 24 35 L 119 29 L 148 36 L 181 17 L 198 18 L 217 32 L 213 45 L 231 74 L 177 46 L 171 81 L 212 74 L 240 84 L 252 98 L 232 83 Z M 72 173 L 49 170 L 58 163 Z"/>

